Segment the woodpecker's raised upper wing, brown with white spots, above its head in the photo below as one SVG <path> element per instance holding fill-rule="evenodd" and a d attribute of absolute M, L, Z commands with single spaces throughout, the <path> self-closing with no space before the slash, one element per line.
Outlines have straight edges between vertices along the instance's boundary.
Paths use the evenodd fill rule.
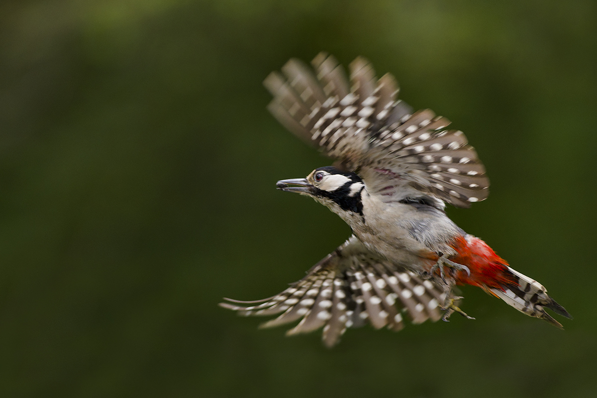
<path fill-rule="evenodd" d="M 356 58 L 350 84 L 334 57 L 319 54 L 313 69 L 291 59 L 264 85 L 268 109 L 290 131 L 357 172 L 371 192 L 399 200 L 424 192 L 454 206 L 487 198 L 485 168 L 450 121 L 397 100 L 392 75 L 376 78 Z"/>

